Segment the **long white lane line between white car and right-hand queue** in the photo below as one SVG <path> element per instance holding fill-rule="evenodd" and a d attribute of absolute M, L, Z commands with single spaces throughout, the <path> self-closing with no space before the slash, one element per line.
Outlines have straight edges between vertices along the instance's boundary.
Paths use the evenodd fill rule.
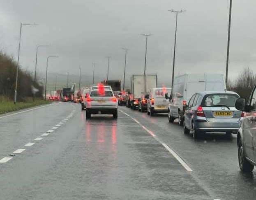
<path fill-rule="evenodd" d="M 120 110 L 122 113 L 124 113 L 125 115 L 129 116 L 127 113 L 125 113 L 124 111 Z M 131 117 L 131 116 L 129 116 Z M 137 124 L 139 124 L 142 128 L 144 128 L 150 135 L 152 135 L 152 137 L 154 137 L 159 143 L 161 143 L 177 160 L 178 162 L 180 162 L 180 164 L 187 170 L 187 171 L 193 171 L 188 165 L 187 163 L 184 162 L 184 160 L 182 160 L 182 158 L 180 156 L 178 156 L 177 153 L 175 153 L 175 151 L 173 151 L 169 146 L 167 146 L 166 144 L 162 143 L 157 137 L 156 135 L 151 131 L 148 130 L 148 128 L 146 128 L 145 126 L 143 126 L 138 120 L 134 119 L 133 117 L 131 117 L 131 119 L 133 119 Z"/>

